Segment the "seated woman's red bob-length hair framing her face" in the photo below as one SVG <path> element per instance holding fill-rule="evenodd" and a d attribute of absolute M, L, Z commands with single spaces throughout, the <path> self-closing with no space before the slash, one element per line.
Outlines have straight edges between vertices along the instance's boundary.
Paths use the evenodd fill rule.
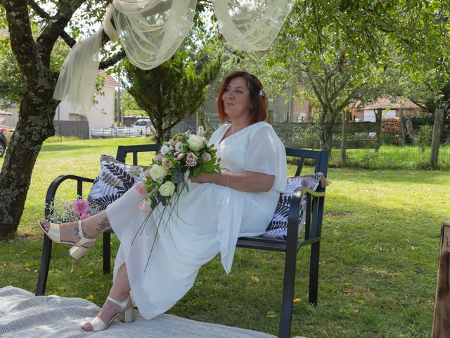
<path fill-rule="evenodd" d="M 250 101 L 252 101 L 252 108 L 250 109 L 252 118 L 250 119 L 250 125 L 260 121 L 266 121 L 267 99 L 266 93 L 264 93 L 264 89 L 262 88 L 262 83 L 255 75 L 241 70 L 235 70 L 229 73 L 229 75 L 226 75 L 225 80 L 220 84 L 219 92 L 217 93 L 217 113 L 219 114 L 219 119 L 221 122 L 225 122 L 226 118 L 228 118 L 228 115 L 225 113 L 222 95 L 224 94 L 230 81 L 235 77 L 243 77 L 247 83 L 247 88 L 250 90 Z"/>

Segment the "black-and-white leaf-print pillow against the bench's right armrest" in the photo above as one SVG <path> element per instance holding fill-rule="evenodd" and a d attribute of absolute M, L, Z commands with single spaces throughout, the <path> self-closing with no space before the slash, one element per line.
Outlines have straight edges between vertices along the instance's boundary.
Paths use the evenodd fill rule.
<path fill-rule="evenodd" d="M 288 177 L 288 182 L 286 184 L 285 192 L 280 194 L 280 199 L 278 199 L 278 204 L 275 209 L 274 217 L 267 227 L 266 232 L 262 234 L 264 237 L 269 238 L 286 238 L 288 236 L 288 216 L 290 201 L 293 197 L 294 190 L 297 187 L 302 189 L 309 188 L 312 191 L 316 191 L 317 187 L 321 182 L 322 173 L 315 173 L 310 175 Z M 306 210 L 306 198 L 302 200 L 302 207 L 300 208 L 299 215 L 299 233 L 302 230 L 304 223 L 304 215 Z"/>

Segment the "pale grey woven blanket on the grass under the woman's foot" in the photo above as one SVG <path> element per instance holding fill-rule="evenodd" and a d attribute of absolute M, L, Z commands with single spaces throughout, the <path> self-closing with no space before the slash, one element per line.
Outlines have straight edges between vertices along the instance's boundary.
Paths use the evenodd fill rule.
<path fill-rule="evenodd" d="M 145 320 L 138 311 L 134 323 L 115 320 L 107 331 L 81 332 L 79 327 L 99 310 L 86 299 L 34 296 L 24 289 L 3 287 L 0 288 L 0 337 L 275 338 L 271 334 L 175 315 L 163 314 Z"/>

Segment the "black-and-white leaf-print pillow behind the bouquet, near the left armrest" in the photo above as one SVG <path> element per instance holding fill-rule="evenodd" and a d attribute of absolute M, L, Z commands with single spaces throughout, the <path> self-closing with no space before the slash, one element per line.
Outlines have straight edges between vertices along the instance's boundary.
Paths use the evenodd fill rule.
<path fill-rule="evenodd" d="M 144 178 L 139 165 L 127 165 L 109 155 L 100 157 L 100 168 L 87 197 L 89 206 L 96 211 L 105 210 L 109 204 Z"/>

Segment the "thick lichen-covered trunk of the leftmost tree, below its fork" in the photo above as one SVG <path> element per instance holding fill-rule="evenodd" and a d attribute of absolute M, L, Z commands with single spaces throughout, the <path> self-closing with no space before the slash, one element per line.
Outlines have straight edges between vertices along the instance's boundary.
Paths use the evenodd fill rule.
<path fill-rule="evenodd" d="M 34 163 L 44 140 L 55 134 L 53 117 L 58 102 L 51 97 L 35 97 L 30 92 L 24 94 L 20 119 L 0 172 L 0 238 L 17 231 Z"/>

